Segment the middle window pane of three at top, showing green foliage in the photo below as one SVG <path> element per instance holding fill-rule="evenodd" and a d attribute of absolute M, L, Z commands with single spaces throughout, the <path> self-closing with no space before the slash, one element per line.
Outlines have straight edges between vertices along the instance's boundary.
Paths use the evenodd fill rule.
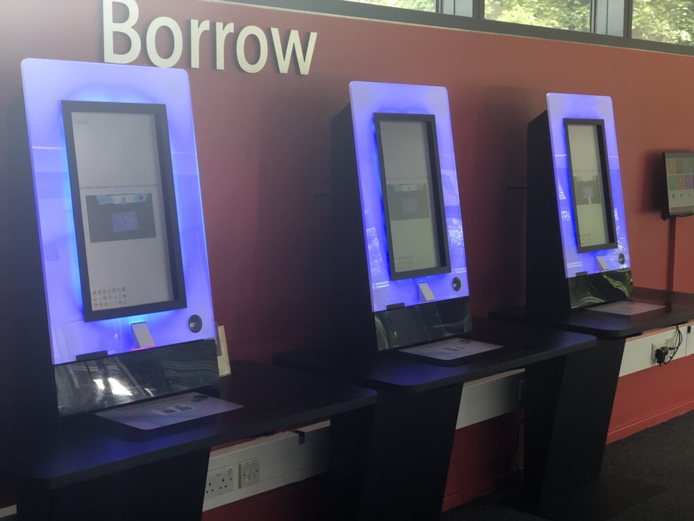
<path fill-rule="evenodd" d="M 499 22 L 591 30 L 590 0 L 484 0 L 484 17 Z"/>

